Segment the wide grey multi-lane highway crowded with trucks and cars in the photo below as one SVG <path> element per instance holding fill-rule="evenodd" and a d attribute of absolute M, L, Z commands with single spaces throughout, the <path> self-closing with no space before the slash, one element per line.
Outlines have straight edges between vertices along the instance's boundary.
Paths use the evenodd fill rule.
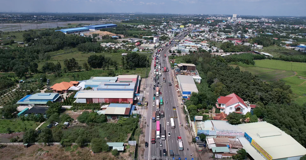
<path fill-rule="evenodd" d="M 188 33 L 186 33 L 188 34 Z M 185 35 L 186 35 L 185 34 Z M 185 35 L 181 36 L 178 38 L 178 40 L 182 40 Z M 149 146 L 145 148 L 144 152 L 144 159 L 172 159 L 169 158 L 170 150 L 173 150 L 174 155 L 179 154 L 181 159 L 191 159 L 193 156 L 190 154 L 193 153 L 191 150 L 187 150 L 189 147 L 189 142 L 187 140 L 187 134 L 189 134 L 186 123 L 185 123 L 185 116 L 182 116 L 183 110 L 181 109 L 182 105 L 179 104 L 177 93 L 175 90 L 175 86 L 173 83 L 173 77 L 172 73 L 173 71 L 171 70 L 170 62 L 169 62 L 169 49 L 175 45 L 176 42 L 172 42 L 169 46 L 165 47 L 161 52 L 160 52 L 160 62 L 161 62 L 161 71 L 162 71 L 162 76 L 159 77 L 159 82 L 162 87 L 160 87 L 160 90 L 162 91 L 162 94 L 160 97 L 163 97 L 164 105 L 160 106 L 160 111 L 163 110 L 165 112 L 165 117 L 160 118 L 160 124 L 161 124 L 161 135 L 166 136 L 166 140 L 161 140 L 161 139 L 156 139 L 156 144 L 151 144 L 151 131 L 155 130 L 156 131 L 156 122 L 152 122 L 152 113 L 156 112 L 156 106 L 152 106 L 152 103 L 155 102 L 153 100 L 154 94 L 156 94 L 156 90 L 153 90 L 154 84 L 153 84 L 153 77 L 154 75 L 154 56 L 152 56 L 152 63 L 151 63 L 151 68 L 150 68 L 150 73 L 148 76 L 148 80 L 146 81 L 146 91 L 148 91 L 148 97 L 146 100 L 148 101 L 148 111 L 146 114 L 146 124 L 148 127 L 146 127 L 145 130 L 145 141 L 149 143 Z M 166 57 L 164 55 L 166 54 Z M 165 60 L 163 60 L 165 58 Z M 158 63 L 159 64 L 159 63 Z M 169 69 L 169 72 L 163 72 L 163 68 L 167 67 Z M 163 78 L 165 78 L 166 82 L 163 82 Z M 168 85 L 168 82 L 171 82 L 171 86 Z M 157 85 L 156 82 L 156 85 Z M 156 97 L 156 99 L 160 99 L 160 97 Z M 166 104 L 167 102 L 167 104 Z M 177 118 L 174 118 L 174 124 L 175 124 L 175 129 L 171 129 L 171 122 L 170 118 L 173 117 L 173 110 L 172 107 L 175 106 L 176 112 L 177 112 Z M 179 107 L 177 107 L 179 106 Z M 166 125 L 166 123 L 169 122 L 170 125 Z M 183 124 L 184 126 L 180 126 Z M 186 127 L 186 129 L 185 129 Z M 170 132 L 170 136 L 168 136 L 168 132 Z M 179 145 L 177 144 L 177 137 L 180 136 L 182 137 L 183 140 L 183 146 L 184 150 L 179 151 Z M 160 142 L 163 144 L 163 146 L 160 146 Z M 163 156 L 163 149 L 166 149 L 167 151 L 167 156 Z M 157 156 L 157 157 L 156 157 Z M 161 157 L 163 156 L 163 157 Z M 179 158 L 176 158 L 179 159 Z M 194 158 L 196 159 L 196 158 Z"/>

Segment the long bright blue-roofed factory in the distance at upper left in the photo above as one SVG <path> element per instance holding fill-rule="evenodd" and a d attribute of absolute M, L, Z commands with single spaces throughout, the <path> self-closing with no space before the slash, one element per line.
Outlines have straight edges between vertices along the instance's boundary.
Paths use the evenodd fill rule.
<path fill-rule="evenodd" d="M 97 24 L 97 25 L 88 25 L 84 27 L 77 27 L 77 28 L 65 28 L 55 31 L 61 31 L 64 34 L 74 34 L 74 33 L 80 33 L 82 31 L 89 31 L 89 30 L 98 30 L 103 28 L 112 28 L 117 27 L 116 24 Z"/>

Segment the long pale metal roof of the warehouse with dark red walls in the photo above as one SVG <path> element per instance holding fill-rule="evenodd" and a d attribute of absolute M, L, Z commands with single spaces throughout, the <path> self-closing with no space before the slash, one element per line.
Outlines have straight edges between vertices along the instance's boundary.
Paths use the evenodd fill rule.
<path fill-rule="evenodd" d="M 92 99 L 133 99 L 134 91 L 115 91 L 115 90 L 82 90 L 78 91 L 74 98 L 92 98 Z"/>

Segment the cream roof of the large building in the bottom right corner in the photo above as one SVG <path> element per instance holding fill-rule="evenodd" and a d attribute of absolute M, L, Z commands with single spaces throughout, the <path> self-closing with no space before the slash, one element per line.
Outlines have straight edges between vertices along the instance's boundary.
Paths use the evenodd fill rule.
<path fill-rule="evenodd" d="M 238 127 L 258 143 L 273 159 L 306 154 L 306 148 L 295 139 L 265 121 L 239 124 Z M 247 152 L 253 152 L 250 149 Z"/>

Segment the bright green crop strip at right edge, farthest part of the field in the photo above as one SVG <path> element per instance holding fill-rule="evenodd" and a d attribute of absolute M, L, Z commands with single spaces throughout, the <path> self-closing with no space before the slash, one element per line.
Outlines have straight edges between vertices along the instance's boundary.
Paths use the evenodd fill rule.
<path fill-rule="evenodd" d="M 274 59 L 255 60 L 255 66 L 285 71 L 306 71 L 306 63 Z"/>

